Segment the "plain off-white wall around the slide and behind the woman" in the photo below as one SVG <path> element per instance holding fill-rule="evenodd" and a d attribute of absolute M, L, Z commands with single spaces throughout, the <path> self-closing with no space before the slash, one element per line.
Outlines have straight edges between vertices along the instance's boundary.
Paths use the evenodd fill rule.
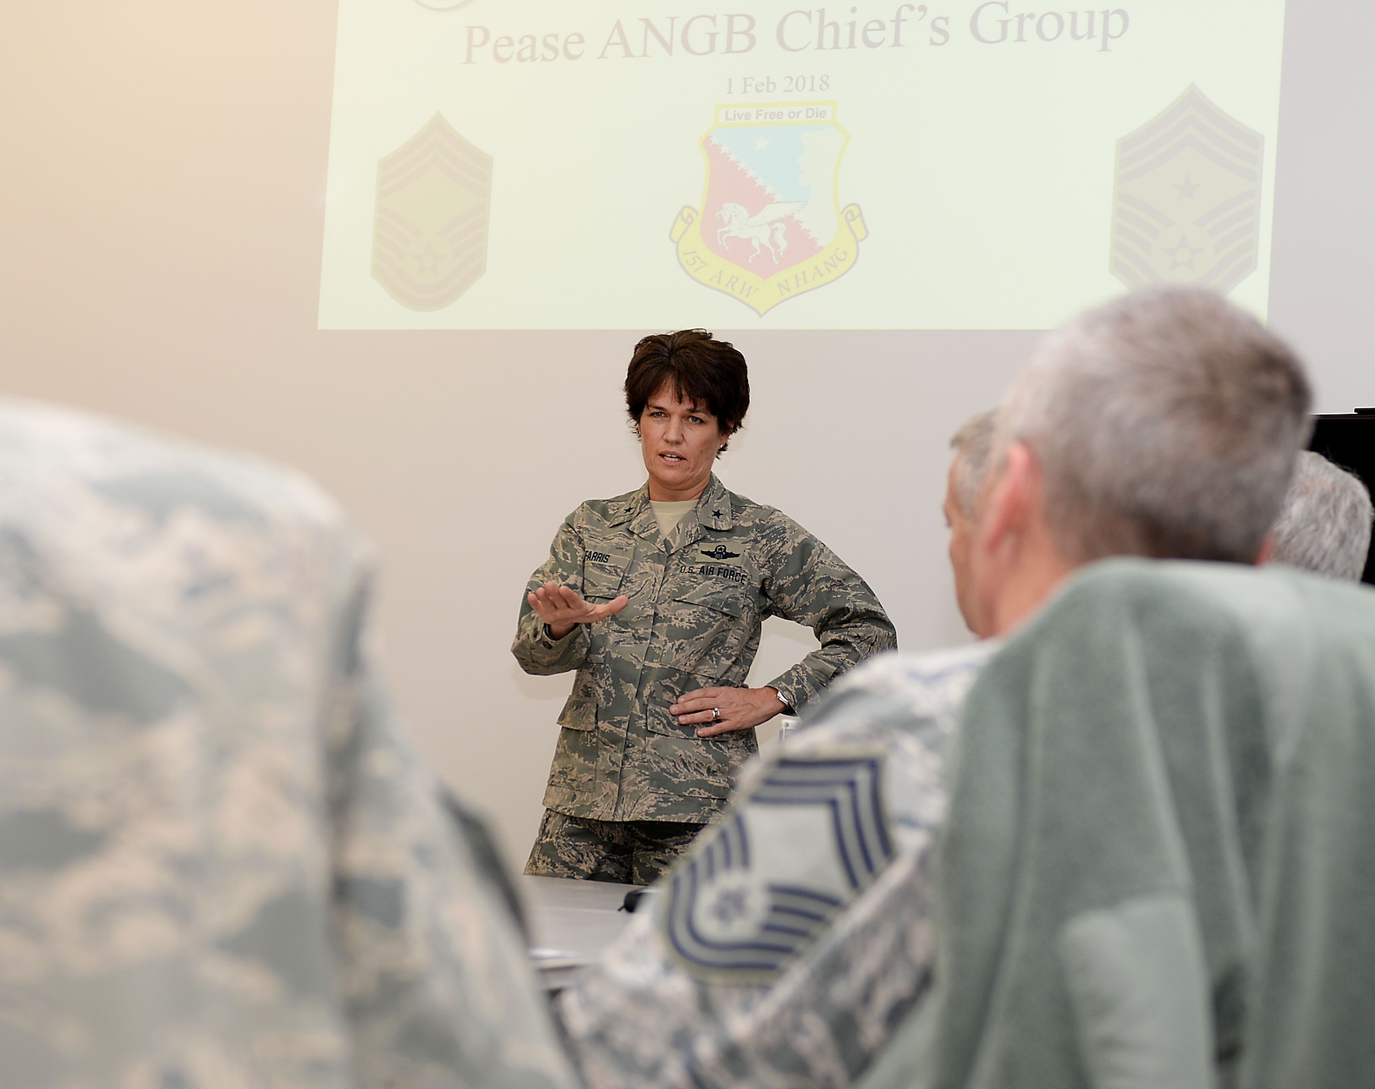
<path fill-rule="evenodd" d="M 1290 19 L 1272 318 L 1345 411 L 1375 403 L 1375 14 Z M 516 609 L 560 518 L 642 478 L 619 402 L 638 334 L 318 333 L 333 32 L 329 0 L 8 6 L 0 389 L 314 473 L 380 549 L 414 734 L 517 865 L 568 679 L 518 672 Z M 716 331 L 755 395 L 727 485 L 859 569 L 905 646 L 964 638 L 945 444 L 1033 336 Z M 771 624 L 777 671 L 810 634 Z"/>

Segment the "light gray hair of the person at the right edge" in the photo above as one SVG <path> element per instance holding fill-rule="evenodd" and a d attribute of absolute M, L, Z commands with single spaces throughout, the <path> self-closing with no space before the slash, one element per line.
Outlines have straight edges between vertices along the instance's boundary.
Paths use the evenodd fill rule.
<path fill-rule="evenodd" d="M 1275 560 L 1360 580 L 1371 547 L 1371 496 L 1361 478 L 1305 450 L 1275 522 Z"/>

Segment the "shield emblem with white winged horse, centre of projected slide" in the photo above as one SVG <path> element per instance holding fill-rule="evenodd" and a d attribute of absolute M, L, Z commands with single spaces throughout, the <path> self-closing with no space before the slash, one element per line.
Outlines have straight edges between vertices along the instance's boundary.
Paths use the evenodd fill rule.
<path fill-rule="evenodd" d="M 869 230 L 837 195 L 848 143 L 835 102 L 718 106 L 701 208 L 668 235 L 683 271 L 763 316 L 854 268 Z"/>

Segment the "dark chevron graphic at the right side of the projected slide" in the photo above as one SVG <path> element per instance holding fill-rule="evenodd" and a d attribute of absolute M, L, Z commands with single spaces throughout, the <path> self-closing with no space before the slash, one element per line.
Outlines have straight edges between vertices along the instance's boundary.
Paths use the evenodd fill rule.
<path fill-rule="evenodd" d="M 1255 271 L 1265 140 L 1191 85 L 1118 142 L 1110 268 L 1231 292 Z"/>

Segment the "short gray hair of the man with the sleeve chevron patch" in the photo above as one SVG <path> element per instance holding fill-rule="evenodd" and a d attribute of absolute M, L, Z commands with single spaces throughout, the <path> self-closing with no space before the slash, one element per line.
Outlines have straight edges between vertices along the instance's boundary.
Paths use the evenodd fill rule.
<path fill-rule="evenodd" d="M 1280 512 L 1312 393 L 1290 348 L 1221 296 L 1154 289 L 1049 334 L 998 411 L 1026 443 L 1045 517 L 1077 562 L 1250 562 Z"/>

